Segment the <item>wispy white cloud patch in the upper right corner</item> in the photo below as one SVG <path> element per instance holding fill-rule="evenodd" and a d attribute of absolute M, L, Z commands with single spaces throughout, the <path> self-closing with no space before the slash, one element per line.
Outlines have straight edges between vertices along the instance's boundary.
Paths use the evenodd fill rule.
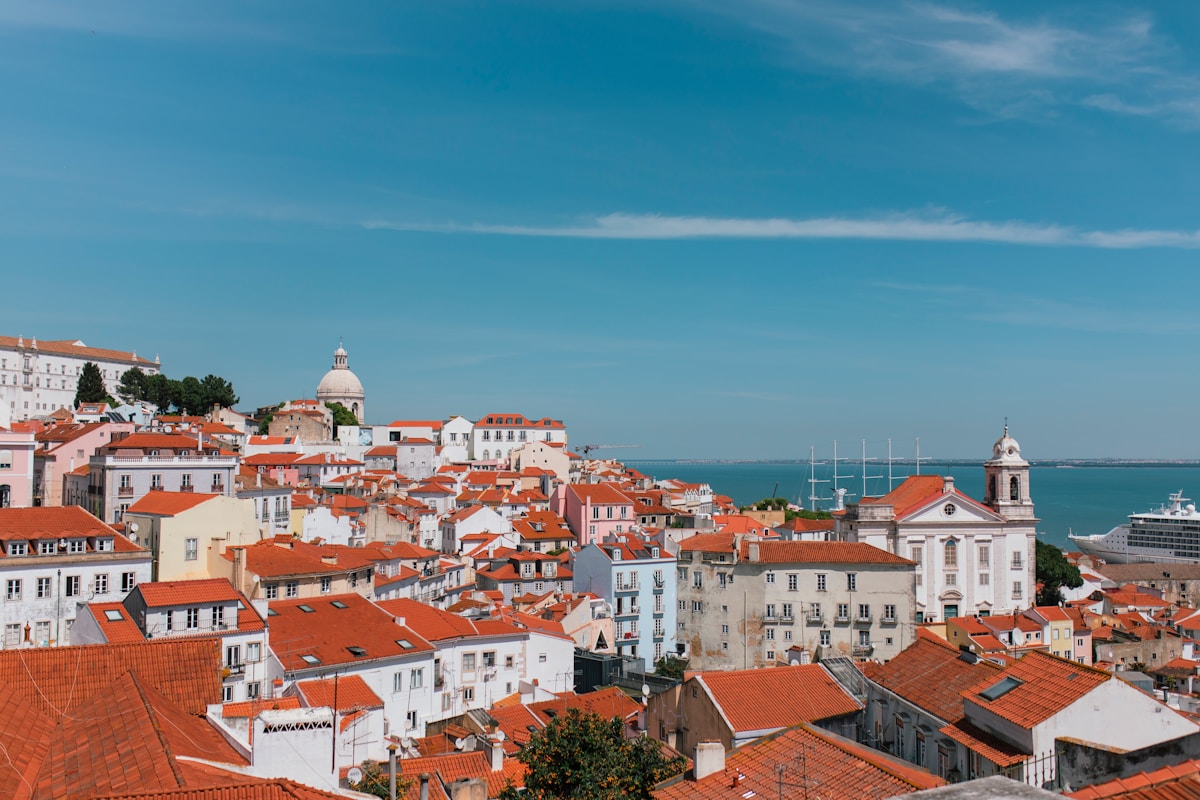
<path fill-rule="evenodd" d="M 958 96 L 996 116 L 1062 107 L 1200 125 L 1200 77 L 1142 12 L 1055 7 L 1018 18 L 978 4 L 680 0 L 778 41 L 804 68 L 833 68 Z"/>

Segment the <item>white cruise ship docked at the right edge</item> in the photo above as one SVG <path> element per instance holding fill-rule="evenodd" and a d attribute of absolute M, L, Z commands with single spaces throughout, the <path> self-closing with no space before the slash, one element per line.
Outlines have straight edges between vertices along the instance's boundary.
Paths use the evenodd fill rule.
<path fill-rule="evenodd" d="M 1180 491 L 1172 493 L 1165 505 L 1129 515 L 1129 522 L 1106 534 L 1072 534 L 1070 541 L 1081 552 L 1109 564 L 1200 564 L 1200 513 Z"/>

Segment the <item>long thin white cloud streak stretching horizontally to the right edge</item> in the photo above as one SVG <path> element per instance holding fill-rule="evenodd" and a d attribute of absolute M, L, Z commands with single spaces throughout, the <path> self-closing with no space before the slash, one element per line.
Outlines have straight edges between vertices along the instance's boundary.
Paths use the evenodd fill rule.
<path fill-rule="evenodd" d="M 992 242 L 1042 247 L 1200 247 L 1200 230 L 1080 230 L 1021 221 L 986 222 L 934 213 L 878 217 L 743 218 L 610 213 L 564 225 L 418 223 L 372 219 L 367 229 L 568 239 L 863 239 Z"/>

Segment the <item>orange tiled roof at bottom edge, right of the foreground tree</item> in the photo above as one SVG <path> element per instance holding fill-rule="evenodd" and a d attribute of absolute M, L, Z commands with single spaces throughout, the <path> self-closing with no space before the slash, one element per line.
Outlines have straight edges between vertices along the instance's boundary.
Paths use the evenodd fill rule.
<path fill-rule="evenodd" d="M 803 765 L 797 764 L 800 752 L 804 753 Z M 887 753 L 799 724 L 734 750 L 726 757 L 720 772 L 700 781 L 674 778 L 660 783 L 654 796 L 658 800 L 775 798 L 781 764 L 786 783 L 803 781 L 823 800 L 890 798 L 946 784 L 936 775 Z M 790 788 L 785 796 L 799 794 L 799 789 Z"/>

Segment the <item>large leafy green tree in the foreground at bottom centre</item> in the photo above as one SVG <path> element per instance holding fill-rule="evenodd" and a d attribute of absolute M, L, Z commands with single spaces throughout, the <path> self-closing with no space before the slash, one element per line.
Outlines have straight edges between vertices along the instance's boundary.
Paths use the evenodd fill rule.
<path fill-rule="evenodd" d="M 654 784 L 688 762 L 648 736 L 626 739 L 624 728 L 619 717 L 568 709 L 517 753 L 528 768 L 524 792 L 509 786 L 500 800 L 649 800 Z"/>

